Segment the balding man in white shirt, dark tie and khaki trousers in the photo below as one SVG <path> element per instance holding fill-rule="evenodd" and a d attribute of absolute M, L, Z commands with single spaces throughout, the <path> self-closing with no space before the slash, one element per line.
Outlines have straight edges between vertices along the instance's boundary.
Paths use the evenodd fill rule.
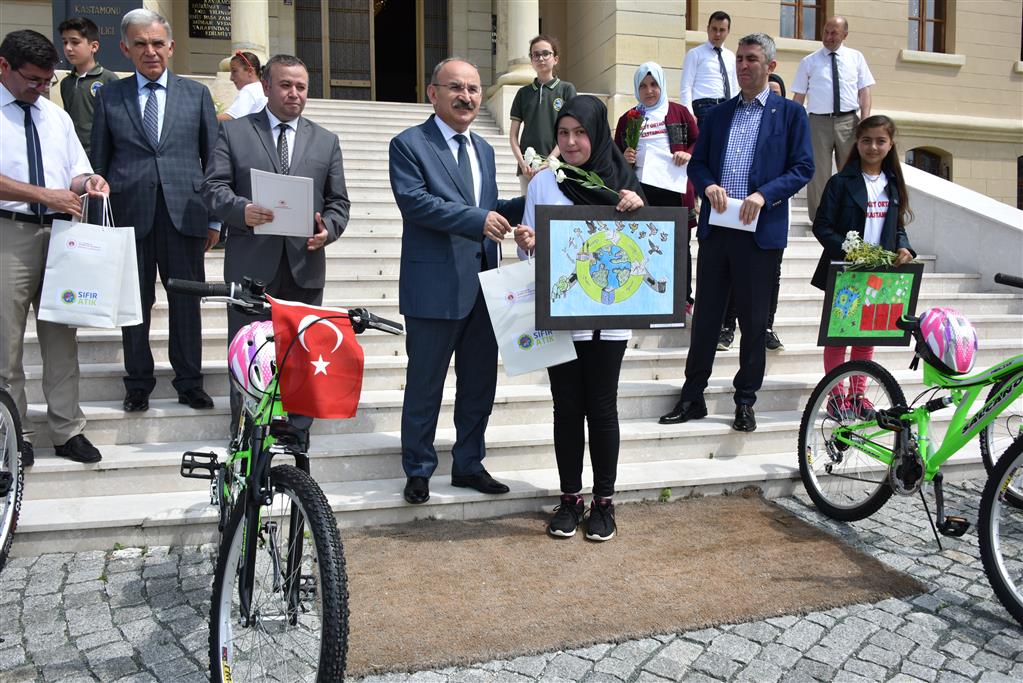
<path fill-rule="evenodd" d="M 832 156 L 841 169 L 855 142 L 856 125 L 871 116 L 874 76 L 863 53 L 842 44 L 848 36 L 849 22 L 844 16 L 828 19 L 820 41 L 824 47 L 802 58 L 792 85 L 793 99 L 800 104 L 809 100 L 806 109 L 810 115 L 814 172 L 806 187 L 806 202 L 811 221 L 832 176 Z"/>

